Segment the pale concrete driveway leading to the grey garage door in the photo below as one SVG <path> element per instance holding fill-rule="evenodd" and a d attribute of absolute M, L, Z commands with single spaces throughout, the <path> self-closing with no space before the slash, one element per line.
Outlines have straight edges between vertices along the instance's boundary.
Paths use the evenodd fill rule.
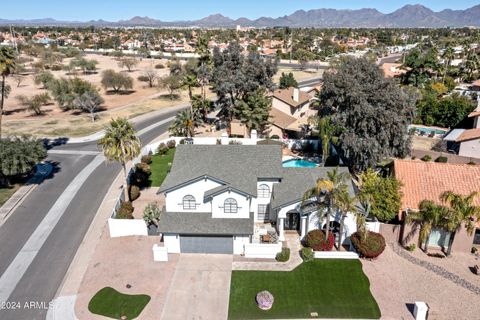
<path fill-rule="evenodd" d="M 180 254 L 162 319 L 227 319 L 232 258 Z"/>

